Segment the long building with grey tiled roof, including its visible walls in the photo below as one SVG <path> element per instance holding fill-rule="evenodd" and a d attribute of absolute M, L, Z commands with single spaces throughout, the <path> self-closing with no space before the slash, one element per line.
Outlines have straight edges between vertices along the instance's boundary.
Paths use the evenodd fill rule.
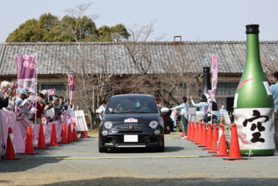
<path fill-rule="evenodd" d="M 218 104 L 232 105 L 234 92 L 240 80 L 240 74 L 245 66 L 246 42 L 243 41 L 215 41 L 215 42 L 145 42 L 142 43 L 148 51 L 152 65 L 149 73 L 165 73 L 165 65 L 190 63 L 186 72 L 202 72 L 202 67 L 211 66 L 211 56 L 218 56 L 218 89 L 216 92 Z M 63 93 L 67 89 L 67 79 L 60 79 L 57 75 L 67 74 L 60 60 L 72 59 L 78 64 L 78 45 L 74 42 L 14 42 L 0 43 L 0 79 L 16 81 L 17 68 L 15 57 L 18 54 L 38 54 L 38 83 L 39 89 L 56 88 L 56 92 Z M 108 73 L 115 75 L 138 74 L 131 56 L 122 42 L 82 42 L 81 47 L 88 52 L 85 61 L 90 73 L 99 73 L 99 65 L 107 59 Z M 260 42 L 261 62 L 263 66 L 275 66 L 278 70 L 278 41 Z M 268 72 L 269 73 L 269 72 Z M 59 92 L 60 91 L 60 92 Z M 177 92 L 177 96 L 186 95 L 186 89 Z M 229 103 L 228 103 L 229 102 Z"/>

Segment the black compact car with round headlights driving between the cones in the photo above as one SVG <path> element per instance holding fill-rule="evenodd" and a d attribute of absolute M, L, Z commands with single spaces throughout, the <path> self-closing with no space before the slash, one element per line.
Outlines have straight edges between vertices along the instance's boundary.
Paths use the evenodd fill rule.
<path fill-rule="evenodd" d="M 99 125 L 99 152 L 133 147 L 164 151 L 163 120 L 152 95 L 114 95 L 106 105 Z"/>

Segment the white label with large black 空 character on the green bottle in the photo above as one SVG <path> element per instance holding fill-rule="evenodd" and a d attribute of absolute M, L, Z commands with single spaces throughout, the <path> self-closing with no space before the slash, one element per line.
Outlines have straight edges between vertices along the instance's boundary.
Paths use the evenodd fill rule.
<path fill-rule="evenodd" d="M 234 109 L 240 150 L 274 149 L 274 109 Z"/>

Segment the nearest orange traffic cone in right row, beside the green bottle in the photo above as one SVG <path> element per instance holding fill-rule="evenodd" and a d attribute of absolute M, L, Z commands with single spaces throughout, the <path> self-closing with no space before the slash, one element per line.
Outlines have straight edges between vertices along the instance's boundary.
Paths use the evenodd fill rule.
<path fill-rule="evenodd" d="M 240 149 L 238 144 L 238 132 L 236 130 L 236 123 L 231 125 L 231 141 L 230 141 L 229 157 L 223 158 L 223 160 L 247 160 L 240 156 Z"/>

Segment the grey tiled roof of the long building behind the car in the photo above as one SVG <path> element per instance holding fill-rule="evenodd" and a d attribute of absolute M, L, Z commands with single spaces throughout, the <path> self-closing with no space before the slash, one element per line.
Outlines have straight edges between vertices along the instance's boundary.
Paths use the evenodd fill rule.
<path fill-rule="evenodd" d="M 188 72 L 202 72 L 203 66 L 211 66 L 211 55 L 218 56 L 220 73 L 241 73 L 245 64 L 245 42 L 146 42 L 153 63 L 150 73 L 165 72 L 161 68 L 169 61 L 193 61 Z M 113 74 L 136 74 L 131 58 L 121 42 L 83 42 L 90 51 L 90 59 L 108 59 L 108 72 Z M 67 71 L 58 55 L 76 59 L 78 45 L 69 42 L 15 42 L 0 43 L 0 75 L 16 75 L 17 54 L 38 54 L 38 75 L 60 75 Z M 278 42 L 260 42 L 261 61 L 274 63 L 278 59 Z M 98 73 L 95 63 L 90 72 Z"/>

